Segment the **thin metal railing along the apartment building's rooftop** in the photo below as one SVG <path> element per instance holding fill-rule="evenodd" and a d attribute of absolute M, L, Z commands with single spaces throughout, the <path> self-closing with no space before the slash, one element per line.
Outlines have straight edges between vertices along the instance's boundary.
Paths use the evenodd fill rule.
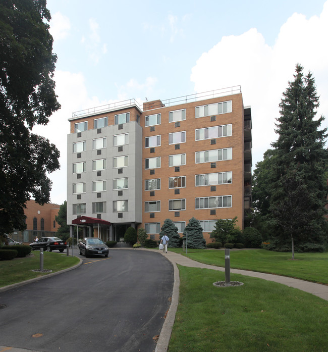
<path fill-rule="evenodd" d="M 227 87 L 222 89 L 209 90 L 207 92 L 202 92 L 202 93 L 183 95 L 183 96 L 178 96 L 176 98 L 171 98 L 166 100 L 158 100 L 158 102 L 161 102 L 161 105 L 158 105 L 158 106 L 154 105 L 151 109 L 156 109 L 156 108 L 162 107 L 163 105 L 166 107 L 170 107 L 172 105 L 197 102 L 198 100 L 211 99 L 211 98 L 216 98 L 220 96 L 239 94 L 239 93 L 241 93 L 241 86 L 235 85 L 232 87 Z M 144 103 L 147 103 L 147 102 L 144 102 Z M 138 103 L 136 99 L 128 99 L 128 100 L 123 100 L 122 102 L 115 102 L 115 103 L 110 103 L 110 104 L 102 105 L 95 108 L 76 111 L 72 114 L 72 118 L 76 119 L 83 116 L 101 114 L 108 111 L 129 108 L 131 106 L 137 106 L 140 109 L 140 111 L 142 111 L 142 105 Z"/>

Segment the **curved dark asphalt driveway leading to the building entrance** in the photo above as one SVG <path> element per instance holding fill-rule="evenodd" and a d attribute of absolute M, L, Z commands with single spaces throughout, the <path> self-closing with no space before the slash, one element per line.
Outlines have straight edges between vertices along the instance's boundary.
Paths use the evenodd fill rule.
<path fill-rule="evenodd" d="M 44 265 L 46 267 L 46 265 Z M 108 258 L 0 293 L 0 345 L 42 352 L 151 352 L 170 307 L 172 264 L 158 253 Z"/>

